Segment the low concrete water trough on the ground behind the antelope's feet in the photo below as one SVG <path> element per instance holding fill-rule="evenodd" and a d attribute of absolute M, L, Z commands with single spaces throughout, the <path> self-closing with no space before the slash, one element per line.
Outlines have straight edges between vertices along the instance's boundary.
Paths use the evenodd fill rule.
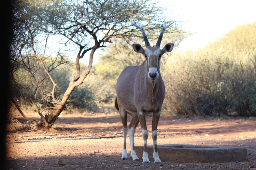
<path fill-rule="evenodd" d="M 143 146 L 135 147 L 141 159 Z M 247 158 L 246 148 L 201 145 L 158 145 L 159 158 L 163 162 L 213 163 L 242 161 Z M 153 146 L 147 146 L 148 158 L 154 162 Z"/>

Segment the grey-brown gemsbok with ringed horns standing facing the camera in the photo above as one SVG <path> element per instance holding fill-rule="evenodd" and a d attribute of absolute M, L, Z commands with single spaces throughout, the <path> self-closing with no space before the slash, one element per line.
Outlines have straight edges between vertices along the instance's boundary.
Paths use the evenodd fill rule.
<path fill-rule="evenodd" d="M 174 23 L 174 22 L 173 22 Z M 145 31 L 141 26 L 132 23 L 134 26 L 141 29 L 146 49 L 143 49 L 139 44 L 133 44 L 133 50 L 142 53 L 145 56 L 145 61 L 140 66 L 127 66 L 119 75 L 116 83 L 115 107 L 119 110 L 120 117 L 123 123 L 124 133 L 124 149 L 122 160 L 127 159 L 126 136 L 127 136 L 127 114 L 132 116 L 129 124 L 130 138 L 130 157 L 133 160 L 139 160 L 134 149 L 134 131 L 137 125 L 141 124 L 142 136 L 144 141 L 143 163 L 150 163 L 147 154 L 147 139 L 148 131 L 146 126 L 145 115 L 153 112 L 152 118 L 152 138 L 154 144 L 153 158 L 156 162 L 161 162 L 157 153 L 157 125 L 161 114 L 163 100 L 165 99 L 165 84 L 163 83 L 160 74 L 160 59 L 166 52 L 171 52 L 174 44 L 168 43 L 160 49 L 163 33 L 171 24 L 165 26 L 156 43 L 156 46 L 151 47 L 148 43 Z"/>

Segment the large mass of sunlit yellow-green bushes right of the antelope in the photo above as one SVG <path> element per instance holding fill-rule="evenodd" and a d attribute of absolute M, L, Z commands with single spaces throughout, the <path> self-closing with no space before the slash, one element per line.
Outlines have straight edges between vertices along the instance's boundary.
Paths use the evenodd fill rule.
<path fill-rule="evenodd" d="M 163 79 L 173 114 L 256 116 L 256 23 L 196 53 L 174 53 Z"/>

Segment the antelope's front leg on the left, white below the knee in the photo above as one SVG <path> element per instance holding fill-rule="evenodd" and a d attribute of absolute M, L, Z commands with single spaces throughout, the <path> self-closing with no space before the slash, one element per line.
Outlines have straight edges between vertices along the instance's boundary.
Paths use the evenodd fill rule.
<path fill-rule="evenodd" d="M 148 131 L 147 131 L 147 125 L 146 125 L 146 117 L 145 113 L 139 112 L 138 113 L 141 129 L 142 129 L 142 137 L 144 141 L 144 150 L 143 150 L 143 163 L 147 164 L 150 163 L 150 160 L 148 159 L 148 154 L 147 154 L 147 138 L 148 138 Z"/>

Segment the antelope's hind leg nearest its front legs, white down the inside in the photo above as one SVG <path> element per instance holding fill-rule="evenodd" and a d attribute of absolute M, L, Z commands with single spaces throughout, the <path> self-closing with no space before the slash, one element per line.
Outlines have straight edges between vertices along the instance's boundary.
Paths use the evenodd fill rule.
<path fill-rule="evenodd" d="M 131 146 L 130 157 L 132 158 L 132 160 L 140 160 L 136 155 L 135 146 L 134 146 L 134 132 L 138 124 L 139 124 L 138 115 L 133 115 L 131 122 L 129 124 L 129 139 L 130 139 L 130 146 Z"/>

